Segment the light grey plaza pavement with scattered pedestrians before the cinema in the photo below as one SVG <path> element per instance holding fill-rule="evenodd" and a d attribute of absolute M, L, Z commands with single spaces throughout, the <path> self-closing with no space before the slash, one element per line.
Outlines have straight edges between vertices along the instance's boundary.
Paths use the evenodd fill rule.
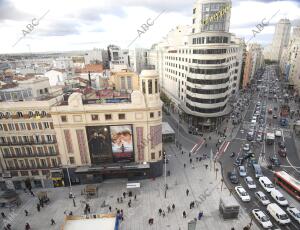
<path fill-rule="evenodd" d="M 221 169 L 218 168 L 217 175 L 214 171 L 213 164 L 210 165 L 209 159 L 195 162 L 194 168 L 191 164 L 183 167 L 183 162 L 188 159 L 188 154 L 182 155 L 176 150 L 174 145 L 167 145 L 166 151 L 169 157 L 168 170 L 171 170 L 171 176 L 167 177 L 169 189 L 167 198 L 164 198 L 164 177 L 156 178 L 155 180 L 141 180 L 141 188 L 137 190 L 137 200 L 132 198 L 132 207 L 128 208 L 128 197 L 124 199 L 122 204 L 117 203 L 117 197 L 121 197 L 126 191 L 125 179 L 107 180 L 102 184 L 98 184 L 98 198 L 86 200 L 81 195 L 83 185 L 73 186 L 73 193 L 76 196 L 76 207 L 73 207 L 72 199 L 68 198 L 69 188 L 52 188 L 47 189 L 51 200 L 49 205 L 41 208 L 37 212 L 37 198 L 30 194 L 20 192 L 23 204 L 16 210 L 12 210 L 12 215 L 9 215 L 8 210 L 1 209 L 10 219 L 8 222 L 12 224 L 13 230 L 23 230 L 25 223 L 30 223 L 33 230 L 48 230 L 60 229 L 64 211 L 72 211 L 74 215 L 82 215 L 85 202 L 91 206 L 91 213 L 108 213 L 108 206 L 101 207 L 103 201 L 112 207 L 124 210 L 124 222 L 121 223 L 121 230 L 186 230 L 188 221 L 197 217 L 200 210 L 204 215 L 200 221 L 197 221 L 196 229 L 242 229 L 250 223 L 250 217 L 241 208 L 239 218 L 234 220 L 224 221 L 219 215 L 219 199 L 221 196 L 229 195 L 229 192 L 223 185 L 221 192 Z M 176 154 L 175 154 L 176 153 Z M 196 157 L 196 156 L 193 156 Z M 205 169 L 205 164 L 208 164 L 208 169 Z M 189 196 L 186 196 L 186 189 L 189 189 Z M 43 189 L 44 190 L 44 189 Z M 37 192 L 39 190 L 33 190 Z M 135 194 L 135 193 L 134 193 Z M 206 194 L 206 196 L 205 196 Z M 201 197 L 200 197 L 201 195 Z M 194 209 L 189 209 L 189 204 L 193 200 L 196 202 Z M 167 206 L 175 204 L 174 212 L 167 213 Z M 197 207 L 198 204 L 198 207 Z M 158 209 L 165 210 L 166 217 L 158 215 Z M 25 217 L 24 209 L 29 211 L 29 216 Z M 182 212 L 186 211 L 187 218 L 182 217 Z M 154 224 L 148 225 L 148 219 L 154 218 Z M 50 225 L 50 219 L 56 221 L 56 225 Z M 6 220 L 7 221 L 7 220 Z M 1 224 L 1 223 L 0 223 Z M 258 229 L 255 224 L 251 229 Z"/>

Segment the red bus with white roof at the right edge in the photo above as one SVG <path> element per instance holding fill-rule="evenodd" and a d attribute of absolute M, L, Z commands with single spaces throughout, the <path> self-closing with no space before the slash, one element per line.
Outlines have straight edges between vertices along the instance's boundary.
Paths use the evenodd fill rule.
<path fill-rule="evenodd" d="M 274 173 L 275 184 L 280 185 L 285 191 L 300 201 L 300 181 L 289 175 L 285 171 Z"/>

